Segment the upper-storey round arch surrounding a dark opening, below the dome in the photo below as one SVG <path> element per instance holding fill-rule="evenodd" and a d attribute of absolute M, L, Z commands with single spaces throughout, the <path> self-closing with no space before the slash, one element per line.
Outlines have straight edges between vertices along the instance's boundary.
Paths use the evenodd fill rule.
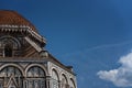
<path fill-rule="evenodd" d="M 6 35 L 0 37 L 1 46 L 0 50 L 1 54 L 0 56 L 3 57 L 14 57 L 22 55 L 21 52 L 21 40 L 18 40 L 18 37 Z"/>

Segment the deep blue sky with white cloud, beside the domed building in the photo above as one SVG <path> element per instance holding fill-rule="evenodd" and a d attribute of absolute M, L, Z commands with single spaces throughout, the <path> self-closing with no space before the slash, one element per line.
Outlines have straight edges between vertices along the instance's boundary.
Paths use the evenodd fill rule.
<path fill-rule="evenodd" d="M 78 88 L 132 87 L 132 0 L 1 0 L 47 40 L 46 48 L 73 65 Z"/>

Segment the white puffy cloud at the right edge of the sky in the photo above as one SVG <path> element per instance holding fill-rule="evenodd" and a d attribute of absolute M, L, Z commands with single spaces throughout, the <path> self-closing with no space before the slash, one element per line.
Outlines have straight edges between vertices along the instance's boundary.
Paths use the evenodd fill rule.
<path fill-rule="evenodd" d="M 100 70 L 99 78 L 113 82 L 118 87 L 132 87 L 132 53 L 119 59 L 121 67 L 111 70 Z"/>

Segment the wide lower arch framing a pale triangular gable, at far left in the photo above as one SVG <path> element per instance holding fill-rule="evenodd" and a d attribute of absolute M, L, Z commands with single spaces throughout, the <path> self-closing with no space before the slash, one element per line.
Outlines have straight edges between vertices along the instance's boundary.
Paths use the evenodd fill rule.
<path fill-rule="evenodd" d="M 16 67 L 4 67 L 0 72 L 0 78 L 3 79 L 1 86 L 7 86 L 8 88 L 23 88 L 22 73 Z"/>

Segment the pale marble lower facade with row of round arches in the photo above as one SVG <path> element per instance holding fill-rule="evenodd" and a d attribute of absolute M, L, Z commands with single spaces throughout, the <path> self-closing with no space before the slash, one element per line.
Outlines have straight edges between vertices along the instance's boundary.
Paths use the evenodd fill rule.
<path fill-rule="evenodd" d="M 9 61 L 0 63 L 0 88 L 77 88 L 76 77 L 51 62 Z"/>

